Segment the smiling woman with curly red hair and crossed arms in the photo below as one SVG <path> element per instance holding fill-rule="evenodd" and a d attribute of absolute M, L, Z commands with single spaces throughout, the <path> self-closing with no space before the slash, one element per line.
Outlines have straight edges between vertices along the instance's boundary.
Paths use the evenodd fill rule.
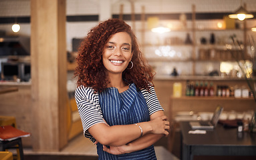
<path fill-rule="evenodd" d="M 153 144 L 169 122 L 130 26 L 109 19 L 91 29 L 77 62 L 76 103 L 99 159 L 156 159 Z"/>

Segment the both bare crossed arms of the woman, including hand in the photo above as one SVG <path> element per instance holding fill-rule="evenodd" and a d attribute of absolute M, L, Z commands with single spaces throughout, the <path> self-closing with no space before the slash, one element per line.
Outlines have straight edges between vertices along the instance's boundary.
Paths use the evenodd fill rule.
<path fill-rule="evenodd" d="M 98 123 L 90 127 L 88 131 L 99 143 L 104 145 L 104 151 L 119 155 L 145 149 L 156 143 L 162 136 L 168 136 L 170 127 L 166 120 L 163 111 L 156 111 L 150 115 L 150 121 L 138 123 L 143 130 L 142 137 L 140 137 L 140 128 L 134 124 L 110 127 L 105 123 Z M 107 148 L 106 145 L 110 148 Z"/>

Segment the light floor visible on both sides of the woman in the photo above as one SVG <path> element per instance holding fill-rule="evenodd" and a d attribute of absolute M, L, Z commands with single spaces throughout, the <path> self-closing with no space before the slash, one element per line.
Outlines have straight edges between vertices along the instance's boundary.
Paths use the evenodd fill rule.
<path fill-rule="evenodd" d="M 156 157 L 158 160 L 178 160 L 165 147 L 156 146 Z M 24 149 L 25 155 L 97 155 L 96 145 L 83 135 L 72 139 L 67 147 L 59 152 L 34 152 L 31 149 Z"/>

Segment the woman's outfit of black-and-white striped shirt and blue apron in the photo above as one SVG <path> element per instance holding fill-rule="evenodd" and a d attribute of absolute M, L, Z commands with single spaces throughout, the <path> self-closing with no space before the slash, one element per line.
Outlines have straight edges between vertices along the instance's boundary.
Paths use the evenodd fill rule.
<path fill-rule="evenodd" d="M 84 127 L 84 135 L 91 141 L 95 139 L 88 129 L 97 123 L 105 123 L 104 119 L 110 126 L 128 125 L 149 121 L 152 113 L 163 110 L 154 87 L 150 87 L 149 92 L 146 89 L 137 91 L 134 83 L 123 93 L 118 93 L 116 88 L 108 88 L 99 94 L 95 93 L 92 87 L 80 86 L 76 89 L 75 97 Z M 102 145 L 99 143 L 97 150 L 99 159 L 155 159 L 153 146 L 124 155 L 106 153 L 102 151 Z"/>

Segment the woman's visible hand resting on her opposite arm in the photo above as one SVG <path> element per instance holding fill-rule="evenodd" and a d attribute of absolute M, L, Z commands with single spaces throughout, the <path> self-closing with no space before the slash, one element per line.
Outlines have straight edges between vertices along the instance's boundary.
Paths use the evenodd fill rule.
<path fill-rule="evenodd" d="M 168 136 L 168 134 L 169 134 L 168 130 L 170 129 L 170 123 L 169 123 L 169 121 L 167 121 L 167 117 L 165 115 L 156 117 L 155 119 L 152 119 L 149 122 L 152 127 L 151 133 L 164 134 L 165 137 Z"/>

